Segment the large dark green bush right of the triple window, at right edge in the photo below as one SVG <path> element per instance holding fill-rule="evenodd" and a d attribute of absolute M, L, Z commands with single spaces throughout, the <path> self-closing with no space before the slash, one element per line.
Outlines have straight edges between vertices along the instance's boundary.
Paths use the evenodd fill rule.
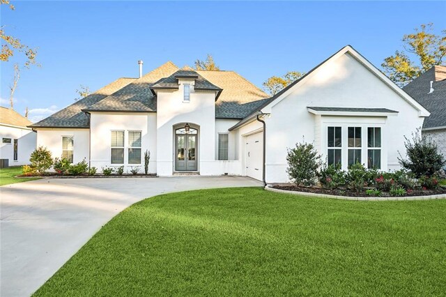
<path fill-rule="evenodd" d="M 437 144 L 430 137 L 422 136 L 420 129 L 412 133 L 411 140 L 404 138 L 407 159 L 399 153 L 399 164 L 417 178 L 433 176 L 446 164 L 445 158 L 438 152 Z"/>

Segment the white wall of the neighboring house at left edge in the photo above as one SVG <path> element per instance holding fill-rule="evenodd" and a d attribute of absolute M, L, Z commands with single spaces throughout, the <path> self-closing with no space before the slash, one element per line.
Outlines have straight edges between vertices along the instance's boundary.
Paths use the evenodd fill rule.
<path fill-rule="evenodd" d="M 3 143 L 10 138 L 11 143 Z M 14 139 L 17 139 L 17 160 L 14 160 Z M 29 164 L 29 156 L 36 148 L 37 134 L 29 128 L 0 124 L 0 159 L 8 159 L 9 166 Z"/>

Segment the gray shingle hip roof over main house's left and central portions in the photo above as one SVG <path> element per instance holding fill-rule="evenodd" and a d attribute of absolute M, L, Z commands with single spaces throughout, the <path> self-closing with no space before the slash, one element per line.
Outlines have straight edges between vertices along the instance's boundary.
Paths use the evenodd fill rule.
<path fill-rule="evenodd" d="M 157 102 L 151 88 L 156 84 L 171 87 L 175 84 L 178 88 L 175 77 L 178 75 L 198 76 L 195 89 L 198 86 L 198 89 L 220 91 L 215 102 L 215 117 L 219 119 L 243 119 L 268 98 L 233 71 L 178 70 L 174 63 L 167 62 L 139 79 L 117 79 L 31 127 L 89 128 L 89 116 L 85 112 L 156 112 Z"/>

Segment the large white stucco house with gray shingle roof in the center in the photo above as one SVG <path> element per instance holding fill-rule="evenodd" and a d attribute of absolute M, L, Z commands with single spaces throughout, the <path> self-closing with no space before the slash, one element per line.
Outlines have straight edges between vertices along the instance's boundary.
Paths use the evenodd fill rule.
<path fill-rule="evenodd" d="M 38 145 L 72 162 L 160 176 L 181 172 L 286 182 L 287 148 L 314 142 L 346 169 L 353 162 L 397 169 L 404 135 L 429 112 L 346 46 L 268 98 L 232 71 L 178 69 L 168 62 L 118 79 L 31 125 Z"/>

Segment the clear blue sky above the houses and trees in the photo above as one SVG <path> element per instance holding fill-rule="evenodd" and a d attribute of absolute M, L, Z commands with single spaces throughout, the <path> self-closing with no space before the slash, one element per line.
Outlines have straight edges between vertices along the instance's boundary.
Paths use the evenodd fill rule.
<path fill-rule="evenodd" d="M 41 67 L 22 70 L 15 110 L 31 120 L 66 107 L 83 84 L 92 91 L 173 61 L 193 66 L 214 56 L 261 87 L 272 75 L 307 72 L 350 44 L 371 63 L 401 50 L 403 34 L 433 22 L 446 29 L 446 1 L 153 2 L 12 1 L 1 25 L 38 47 Z M 1 63 L 1 105 L 8 106 L 13 62 Z"/>

